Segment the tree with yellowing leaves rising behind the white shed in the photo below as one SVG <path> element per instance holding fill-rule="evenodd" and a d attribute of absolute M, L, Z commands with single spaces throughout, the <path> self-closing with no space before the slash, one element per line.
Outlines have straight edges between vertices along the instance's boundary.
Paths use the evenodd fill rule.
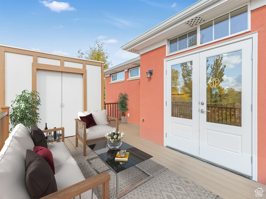
<path fill-rule="evenodd" d="M 104 43 L 99 43 L 96 39 L 93 46 L 89 46 L 89 50 L 85 52 L 81 52 L 81 49 L 78 50 L 77 57 L 90 59 L 95 61 L 102 61 L 103 62 L 103 69 L 109 68 L 110 65 L 113 65 L 111 61 L 108 61 L 109 53 L 103 48 Z M 103 76 L 105 77 L 105 76 Z M 103 79 L 103 101 L 105 103 L 105 79 Z"/>

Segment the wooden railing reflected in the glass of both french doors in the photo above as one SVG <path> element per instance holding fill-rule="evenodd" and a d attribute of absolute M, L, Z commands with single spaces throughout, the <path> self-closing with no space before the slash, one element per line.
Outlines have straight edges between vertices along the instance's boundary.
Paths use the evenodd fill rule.
<path fill-rule="evenodd" d="M 207 105 L 207 110 L 207 122 L 241 126 L 241 107 Z M 192 105 L 172 101 L 172 117 L 192 119 Z"/>

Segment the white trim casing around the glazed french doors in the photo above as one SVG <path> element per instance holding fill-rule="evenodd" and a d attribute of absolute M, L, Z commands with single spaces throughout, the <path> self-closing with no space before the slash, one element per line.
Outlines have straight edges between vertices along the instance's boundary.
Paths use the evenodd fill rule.
<path fill-rule="evenodd" d="M 253 32 L 250 34 L 246 34 L 244 36 L 240 36 L 237 38 L 233 38 L 224 42 L 220 42 L 211 46 L 207 46 L 207 47 L 203 47 L 197 50 L 193 50 L 190 52 L 186 52 L 184 54 L 181 55 L 176 55 L 170 58 L 165 58 L 164 59 L 164 146 L 167 146 L 166 143 L 166 132 L 167 132 L 167 113 L 166 113 L 166 99 L 167 99 L 167 84 L 166 84 L 166 68 L 167 68 L 167 61 L 169 60 L 173 60 L 173 59 L 177 59 L 177 58 L 181 58 L 184 56 L 188 56 L 188 55 L 192 55 L 192 54 L 196 54 L 202 51 L 206 51 L 206 50 L 211 50 L 213 48 L 217 48 L 220 46 L 224 46 L 224 45 L 228 45 L 231 43 L 236 43 L 236 42 L 240 42 L 246 39 L 251 39 L 253 40 L 252 42 L 252 52 L 253 52 L 253 59 L 252 59 L 252 180 L 257 181 L 257 48 L 258 48 L 258 32 Z"/>

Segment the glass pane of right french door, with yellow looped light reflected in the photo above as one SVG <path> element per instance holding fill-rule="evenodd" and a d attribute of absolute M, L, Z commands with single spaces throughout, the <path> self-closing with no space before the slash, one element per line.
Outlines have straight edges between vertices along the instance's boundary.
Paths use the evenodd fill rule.
<path fill-rule="evenodd" d="M 207 58 L 207 122 L 241 126 L 242 50 Z"/>

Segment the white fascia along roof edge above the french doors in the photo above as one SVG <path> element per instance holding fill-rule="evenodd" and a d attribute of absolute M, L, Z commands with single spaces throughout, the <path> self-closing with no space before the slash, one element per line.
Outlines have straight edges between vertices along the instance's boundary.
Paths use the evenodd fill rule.
<path fill-rule="evenodd" d="M 153 27 L 152 29 L 148 30 L 147 32 L 141 34 L 140 36 L 132 39 L 131 41 L 129 41 L 128 43 L 124 44 L 123 46 L 121 46 L 121 48 L 123 50 L 127 50 L 132 48 L 133 46 L 136 46 L 136 44 L 140 43 L 141 41 L 143 41 L 144 39 L 147 39 L 148 37 L 153 36 L 156 33 L 161 33 L 161 31 L 163 31 L 165 28 L 177 23 L 178 21 L 202 10 L 203 8 L 206 8 L 216 2 L 223 3 L 225 1 L 228 0 L 200 0 L 196 3 L 194 3 L 193 5 L 187 7 L 186 9 L 182 10 L 181 12 L 178 12 L 176 15 L 170 17 L 169 19 L 163 21 L 162 23 L 156 25 L 155 27 Z"/>

